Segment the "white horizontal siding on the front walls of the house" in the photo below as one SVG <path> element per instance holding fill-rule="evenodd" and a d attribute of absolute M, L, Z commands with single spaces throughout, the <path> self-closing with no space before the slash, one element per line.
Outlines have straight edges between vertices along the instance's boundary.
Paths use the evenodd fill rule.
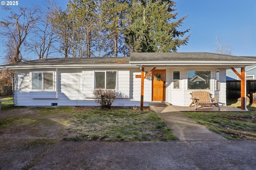
<path fill-rule="evenodd" d="M 147 67 L 145 71 L 152 68 Z M 187 89 L 187 71 L 199 70 L 198 68 L 170 68 L 166 69 L 166 102 L 172 105 L 189 106 L 191 103 L 190 93 L 194 91 Z M 96 71 L 112 71 L 113 68 L 78 68 L 78 69 L 19 69 L 15 70 L 18 83 L 15 85 L 15 104 L 16 106 L 51 106 L 57 103 L 58 106 L 97 106 L 92 92 L 94 90 L 94 73 Z M 140 106 L 141 99 L 141 75 L 140 68 L 115 68 L 117 71 L 117 96 L 113 106 L 132 107 Z M 173 89 L 173 71 L 180 71 L 180 89 Z M 206 68 L 200 68 L 204 71 Z M 210 87 L 216 85 L 216 70 L 210 69 L 212 79 Z M 220 71 L 220 90 L 215 88 L 208 89 L 213 97 L 218 97 L 220 103 L 226 103 L 226 72 Z M 42 90 L 32 91 L 32 72 L 54 72 L 54 91 Z M 144 79 L 144 107 L 149 106 L 152 101 L 152 81 Z"/>

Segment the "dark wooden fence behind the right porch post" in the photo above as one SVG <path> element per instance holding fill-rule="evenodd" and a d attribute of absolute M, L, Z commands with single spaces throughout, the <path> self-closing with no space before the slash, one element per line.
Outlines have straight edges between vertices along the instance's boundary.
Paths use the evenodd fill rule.
<path fill-rule="evenodd" d="M 256 102 L 256 80 L 246 81 L 246 91 L 250 98 L 250 103 L 252 101 Z M 226 95 L 227 99 L 238 99 L 241 97 L 241 81 L 226 81 Z"/>

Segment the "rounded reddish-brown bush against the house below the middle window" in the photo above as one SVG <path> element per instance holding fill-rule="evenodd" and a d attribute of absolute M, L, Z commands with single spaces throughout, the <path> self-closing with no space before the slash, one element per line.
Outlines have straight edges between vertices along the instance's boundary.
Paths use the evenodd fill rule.
<path fill-rule="evenodd" d="M 117 94 L 118 92 L 115 90 L 94 89 L 93 91 L 95 101 L 100 105 L 101 109 L 110 109 L 112 103 L 116 99 Z"/>

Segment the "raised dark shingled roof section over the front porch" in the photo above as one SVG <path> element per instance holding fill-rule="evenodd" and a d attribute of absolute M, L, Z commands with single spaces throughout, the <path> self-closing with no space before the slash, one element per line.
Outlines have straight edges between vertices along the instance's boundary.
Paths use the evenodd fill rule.
<path fill-rule="evenodd" d="M 130 61 L 256 61 L 256 57 L 238 57 L 216 53 L 131 53 Z"/>

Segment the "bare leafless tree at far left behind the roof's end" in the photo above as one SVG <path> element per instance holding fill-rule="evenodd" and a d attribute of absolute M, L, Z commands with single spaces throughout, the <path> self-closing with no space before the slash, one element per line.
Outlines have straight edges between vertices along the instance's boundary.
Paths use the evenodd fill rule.
<path fill-rule="evenodd" d="M 21 48 L 26 43 L 28 34 L 35 28 L 36 22 L 39 20 L 39 8 L 22 8 L 19 13 L 15 13 L 8 6 L 3 6 L 6 12 L 10 12 L 10 16 L 0 21 L 0 35 L 5 38 L 6 56 L 8 62 L 18 63 L 23 59 Z"/>

